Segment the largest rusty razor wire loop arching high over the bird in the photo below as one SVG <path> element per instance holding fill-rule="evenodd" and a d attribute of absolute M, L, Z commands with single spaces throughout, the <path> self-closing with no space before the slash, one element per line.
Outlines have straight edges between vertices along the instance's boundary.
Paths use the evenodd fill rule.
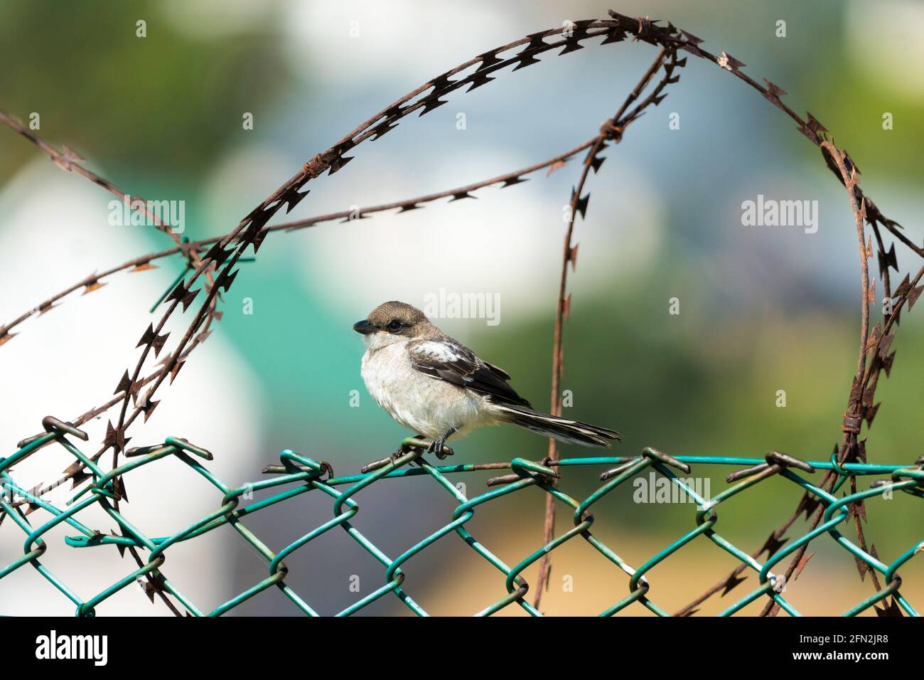
<path fill-rule="evenodd" d="M 431 111 L 433 108 L 436 108 L 439 105 L 443 105 L 445 101 L 442 100 L 442 97 L 445 94 L 455 91 L 463 85 L 468 84 L 468 92 L 470 92 L 476 87 L 480 87 L 480 85 L 483 85 L 490 80 L 494 80 L 490 77 L 489 74 L 500 68 L 505 68 L 506 66 L 517 64 L 516 68 L 513 69 L 517 70 L 518 68 L 523 68 L 531 64 L 538 63 L 540 60 L 537 59 L 536 56 L 560 46 L 565 47 L 565 49 L 559 53 L 561 55 L 576 51 L 577 49 L 581 49 L 583 47 L 583 45 L 579 44 L 581 40 L 594 36 L 603 36 L 604 40 L 602 41 L 602 44 L 605 44 L 621 42 L 626 38 L 626 35 L 633 35 L 634 40 L 660 45 L 662 48 L 671 47 L 673 49 L 683 49 L 688 53 L 693 54 L 694 56 L 707 59 L 720 66 L 721 68 L 734 73 L 737 78 L 745 80 L 751 87 L 758 90 L 765 98 L 771 101 L 773 105 L 777 106 L 789 117 L 792 117 L 794 120 L 796 120 L 799 125 L 799 130 L 802 131 L 802 133 L 805 134 L 810 141 L 816 145 L 821 144 L 821 133 L 825 131 L 823 126 L 821 126 L 821 123 L 812 117 L 811 114 L 808 114 L 808 121 L 804 121 L 801 117 L 798 117 L 796 113 L 792 111 L 792 109 L 780 101 L 780 95 L 785 94 L 783 90 L 773 85 L 769 80 L 765 80 L 767 87 L 764 88 L 754 80 L 748 78 L 747 75 L 740 71 L 740 67 L 743 67 L 744 64 L 737 61 L 734 57 L 727 55 L 725 52 L 722 53 L 722 56 L 711 55 L 711 53 L 706 52 L 699 47 L 699 44 L 702 43 L 699 38 L 693 36 L 687 31 L 676 31 L 676 29 L 670 23 L 665 28 L 658 26 L 658 21 L 650 20 L 647 18 L 633 19 L 624 15 L 620 15 L 612 10 L 610 11 L 610 16 L 613 18 L 612 20 L 586 19 L 575 22 L 576 28 L 569 37 L 565 37 L 565 39 L 553 43 L 546 43 L 544 38 L 562 34 L 564 31 L 571 31 L 570 28 L 563 27 L 530 34 L 526 38 L 517 40 L 513 43 L 508 43 L 502 47 L 495 48 L 492 51 L 483 53 L 480 56 L 476 56 L 465 64 L 445 72 L 443 75 L 438 76 L 436 79 L 424 83 L 417 90 L 408 93 L 401 99 L 397 100 L 393 105 L 390 105 L 380 111 L 376 116 L 371 117 L 364 123 L 360 124 L 356 130 L 353 130 L 353 132 L 342 138 L 339 142 L 335 143 L 334 146 L 332 146 L 326 152 L 312 157 L 310 161 L 305 164 L 301 171 L 299 171 L 292 178 L 288 179 L 286 183 L 284 183 L 276 192 L 271 194 L 268 199 L 266 199 L 262 204 L 251 211 L 248 216 L 245 216 L 244 219 L 242 219 L 238 224 L 237 228 L 228 232 L 219 240 L 213 241 L 212 249 L 201 258 L 200 264 L 198 266 L 192 267 L 193 273 L 191 278 L 189 278 L 188 281 L 181 280 L 180 283 L 177 284 L 176 289 L 172 291 L 171 294 L 166 298 L 165 302 L 169 304 L 167 306 L 166 312 L 161 318 L 161 321 L 158 323 L 156 330 L 154 330 L 153 325 L 151 325 L 149 327 L 150 332 L 146 332 L 142 337 L 139 346 L 143 345 L 144 349 L 142 350 L 140 361 L 136 365 L 135 369 L 131 372 L 130 376 L 129 372 L 126 371 L 125 376 L 119 383 L 119 389 L 116 389 L 116 399 L 108 400 L 107 402 L 104 402 L 103 406 L 95 407 L 87 412 L 88 414 L 102 413 L 101 409 L 104 411 L 110 407 L 105 406 L 105 404 L 115 405 L 118 402 L 122 403 L 117 426 L 112 427 L 110 423 L 110 427 L 107 429 L 106 437 L 103 440 L 103 449 L 97 453 L 93 460 L 98 459 L 99 455 L 102 455 L 104 451 L 107 451 L 109 448 L 113 448 L 113 469 L 116 469 L 118 454 L 120 451 L 125 450 L 125 443 L 128 441 L 128 438 L 126 438 L 126 431 L 128 427 L 130 427 L 131 423 L 134 422 L 139 414 L 143 413 L 145 415 L 145 419 L 147 419 L 147 416 L 150 415 L 153 406 L 157 403 L 151 402 L 150 397 L 153 395 L 156 389 L 158 389 L 158 387 L 163 384 L 168 375 L 171 377 L 171 381 L 176 377 L 176 373 L 185 362 L 186 357 L 188 356 L 188 352 L 191 352 L 192 349 L 194 349 L 198 344 L 201 343 L 202 340 L 204 340 L 203 336 L 196 335 L 196 333 L 197 331 L 206 330 L 207 328 L 205 324 L 211 323 L 213 314 L 209 312 L 209 309 L 213 309 L 216 306 L 217 301 L 221 299 L 220 291 L 227 291 L 234 278 L 237 276 L 237 270 L 234 270 L 234 267 L 237 266 L 237 263 L 240 260 L 244 250 L 250 245 L 253 246 L 254 253 L 256 253 L 256 251 L 259 249 L 263 238 L 265 238 L 265 235 L 270 229 L 267 227 L 267 222 L 278 212 L 279 208 L 283 204 L 286 204 L 287 211 L 291 210 L 296 204 L 298 204 L 299 201 L 304 198 L 305 195 L 307 195 L 308 192 L 300 192 L 300 189 L 308 181 L 310 181 L 310 179 L 317 178 L 325 170 L 328 171 L 329 174 L 333 174 L 335 171 L 339 170 L 340 167 L 346 165 L 346 163 L 352 159 L 351 156 L 345 155 L 346 152 L 357 146 L 359 143 L 367 139 L 374 140 L 378 137 L 381 137 L 386 132 L 394 129 L 401 118 L 406 117 L 413 111 L 419 110 L 419 115 L 422 116 L 425 113 Z M 681 34 L 682 37 L 680 37 Z M 514 56 L 508 58 L 500 58 L 498 56 L 501 53 L 505 53 L 507 50 L 521 45 L 524 46 L 523 50 Z M 480 68 L 476 69 L 473 73 L 458 80 L 450 80 L 452 76 L 458 74 L 460 71 L 475 66 L 476 64 L 480 64 Z M 412 99 L 419 96 L 421 93 L 427 92 L 428 90 L 432 90 L 432 92 L 423 97 L 420 97 L 418 101 L 411 102 Z M 42 148 L 41 145 L 40 148 Z M 61 155 L 61 157 L 67 163 L 73 164 L 74 162 L 72 157 L 67 157 L 67 153 Z M 53 159 L 54 158 L 55 156 L 53 156 Z M 837 167 L 833 163 L 832 159 L 826 158 L 826 161 L 828 161 L 829 167 L 832 167 L 835 174 L 838 174 Z M 81 172 L 81 174 L 83 173 Z M 839 179 L 842 179 L 842 182 L 845 183 L 842 177 L 839 176 Z M 924 254 L 924 248 L 918 247 L 916 244 L 908 240 L 906 236 L 899 230 L 901 229 L 900 225 L 898 225 L 893 220 L 882 216 L 875 204 L 863 196 L 858 186 L 854 188 L 854 194 L 857 202 L 862 202 L 864 206 L 865 218 L 870 224 L 873 225 L 878 242 L 881 243 L 880 234 L 878 231 L 878 227 L 881 225 L 884 229 L 892 233 L 897 241 L 902 242 L 912 251 L 918 253 L 918 255 Z M 454 199 L 468 197 L 470 196 L 468 196 L 467 192 L 466 195 L 454 196 Z M 225 248 L 228 246 L 230 246 L 231 249 L 225 250 Z M 177 244 L 177 248 L 181 248 L 181 246 Z M 190 252 L 198 255 L 197 251 Z M 881 259 L 885 257 L 888 260 L 890 255 L 894 260 L 894 246 L 890 253 L 884 253 L 884 245 L 881 245 Z M 894 268 L 897 270 L 897 266 Z M 218 274 L 217 278 L 214 279 L 214 285 L 209 286 L 208 283 L 206 283 L 206 285 L 203 286 L 203 288 L 207 289 L 205 295 L 206 300 L 199 308 L 199 311 L 195 314 L 192 323 L 188 327 L 188 330 L 184 334 L 183 338 L 178 343 L 176 349 L 171 352 L 163 362 L 161 362 L 162 368 L 155 371 L 148 377 L 141 378 L 141 366 L 144 364 L 149 351 L 154 348 L 154 354 L 156 356 L 160 347 L 163 346 L 164 341 L 166 340 L 166 336 L 160 335 L 166 320 L 176 311 L 176 308 L 180 306 L 181 303 L 183 311 L 186 311 L 189 304 L 192 303 L 193 300 L 197 297 L 198 293 L 201 292 L 201 289 L 194 291 L 192 289 L 193 284 L 203 274 L 206 274 L 208 277 L 212 270 Z M 906 277 L 905 281 L 903 281 L 903 286 L 905 286 L 904 290 L 902 287 L 896 289 L 896 294 L 898 294 L 899 291 L 902 291 L 900 293 L 899 303 L 896 305 L 896 311 L 900 311 L 905 301 L 908 301 L 908 307 L 910 308 L 914 301 L 917 300 L 921 289 L 921 287 L 918 287 L 917 285 L 919 279 L 920 273 L 918 273 L 918 276 L 915 278 L 913 283 L 909 281 L 908 277 Z M 893 320 L 897 322 L 895 313 L 890 316 L 886 324 L 886 328 L 890 328 L 892 326 Z M 6 336 L 6 331 L 4 332 L 4 335 Z M 894 333 L 892 336 L 894 337 Z M 6 336 L 6 339 L 8 340 L 8 336 Z M 886 341 L 885 338 L 881 336 L 875 345 L 877 349 L 880 350 L 882 345 L 885 345 L 885 349 L 887 350 L 889 343 L 891 343 L 891 338 Z M 894 357 L 894 352 L 891 357 Z M 878 377 L 880 368 L 885 367 L 888 373 L 889 368 L 891 368 L 891 360 L 889 361 L 888 365 L 886 365 L 883 358 L 877 365 L 876 358 L 874 357 L 873 362 L 870 365 L 870 369 L 873 365 L 877 366 L 875 377 Z M 872 377 L 873 373 L 871 370 L 869 370 L 866 374 L 866 377 L 862 377 L 862 379 L 858 382 L 862 383 L 864 386 L 868 385 L 869 380 Z M 128 411 L 131 397 L 138 394 L 140 387 L 144 387 L 150 382 L 153 383 L 152 387 L 145 392 L 143 399 L 136 399 L 134 408 L 131 409 L 131 413 L 129 414 Z M 874 384 L 875 380 L 873 381 L 873 385 Z M 868 390 L 860 387 L 857 389 L 857 391 L 859 393 L 859 400 L 857 403 L 863 406 L 861 413 L 869 416 L 868 420 L 871 421 L 871 415 L 869 414 L 869 411 L 872 410 L 872 414 L 874 414 L 875 408 L 878 408 L 878 404 L 876 407 L 872 407 L 871 404 L 867 406 L 865 403 L 865 397 L 868 394 Z M 851 400 L 851 403 L 854 403 L 854 401 Z M 856 441 L 856 436 L 854 436 L 852 439 Z M 857 448 L 859 444 L 854 446 Z M 78 463 L 80 462 L 78 461 Z M 71 474 L 71 477 L 75 478 L 80 474 L 86 474 L 83 471 L 82 464 L 79 465 L 79 470 L 77 472 Z M 124 489 L 122 490 L 124 491 Z M 116 502 L 119 496 L 124 497 L 123 494 L 116 492 Z M 808 497 L 808 492 L 806 497 Z M 160 587 L 160 582 L 158 582 L 157 587 Z"/>

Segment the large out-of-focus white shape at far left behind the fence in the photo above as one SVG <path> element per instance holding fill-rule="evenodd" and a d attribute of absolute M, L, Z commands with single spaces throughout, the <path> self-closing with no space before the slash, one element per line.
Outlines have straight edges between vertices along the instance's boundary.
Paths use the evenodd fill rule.
<path fill-rule="evenodd" d="M 110 198 L 44 157 L 6 184 L 0 194 L 0 215 L 5 220 L 5 229 L 0 230 L 0 290 L 4 293 L 0 318 L 6 321 L 18 316 L 94 267 L 113 266 L 151 250 L 152 241 L 142 238 L 139 231 L 150 228 L 108 226 Z M 172 280 L 173 274 L 164 268 L 118 274 L 102 289 L 82 297 L 75 292 L 59 308 L 17 328 L 21 335 L 0 352 L 0 455 L 10 455 L 19 439 L 40 432 L 44 415 L 69 420 L 111 397 L 122 372 L 137 361 L 140 350 L 135 345 L 152 320 L 149 305 Z M 190 308 L 184 316 L 186 323 L 192 312 Z M 176 337 L 175 333 L 168 340 L 167 348 Z M 215 453 L 208 467 L 227 483 L 248 481 L 259 473 L 253 463 L 261 442 L 259 411 L 254 413 L 255 404 L 261 403 L 255 395 L 258 389 L 247 364 L 237 359 L 220 332 L 213 333 L 193 352 L 174 385 L 158 390 L 164 402 L 147 424 L 139 419 L 130 428 L 129 446 L 157 444 L 169 435 L 184 437 Z M 203 400 L 208 400 L 208 408 L 201 407 Z M 107 416 L 115 422 L 117 414 L 114 410 L 88 423 L 84 429 L 91 441 L 75 443 L 82 451 L 94 453 Z M 104 468 L 111 464 L 111 455 L 111 451 L 105 454 Z M 51 445 L 18 464 L 12 476 L 30 488 L 59 478 L 72 462 L 62 447 Z M 126 476 L 126 484 L 129 502 L 123 503 L 123 510 L 149 536 L 169 536 L 221 504 L 217 489 L 175 460 L 157 461 L 136 471 Z M 71 495 L 69 486 L 55 496 L 59 507 L 64 501 L 60 496 Z M 40 510 L 29 519 L 37 526 L 50 516 Z M 103 533 L 116 528 L 110 517 L 96 509 L 80 513 L 79 519 Z M 203 602 L 203 607 L 221 601 L 222 578 L 216 575 L 227 569 L 225 549 L 232 534 L 209 538 L 206 542 L 215 542 L 207 549 L 204 544 L 198 546 L 191 561 L 184 562 L 180 549 L 176 559 L 171 555 L 164 564 L 164 573 L 194 601 Z M 42 563 L 80 597 L 89 599 L 135 570 L 134 561 L 128 555 L 119 559 L 115 547 L 75 550 L 65 546 L 64 537 L 75 535 L 79 532 L 67 525 L 46 535 L 48 550 Z M 0 563 L 20 556 L 24 539 L 7 518 L 0 526 Z M 141 550 L 142 556 L 145 552 Z M 73 605 L 31 565 L 20 567 L 0 583 L 6 614 L 74 612 Z M 161 604 L 152 607 L 135 586 L 103 602 L 99 611 L 167 613 Z"/>

